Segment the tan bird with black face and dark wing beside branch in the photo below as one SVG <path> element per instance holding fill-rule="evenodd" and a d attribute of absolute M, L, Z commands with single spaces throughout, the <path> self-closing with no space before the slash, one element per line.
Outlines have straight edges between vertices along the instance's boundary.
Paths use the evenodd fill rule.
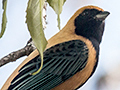
<path fill-rule="evenodd" d="M 42 70 L 38 50 L 11 74 L 1 90 L 77 90 L 93 75 L 99 61 L 105 19 L 98 6 L 78 9 L 67 24 L 48 40 Z"/>

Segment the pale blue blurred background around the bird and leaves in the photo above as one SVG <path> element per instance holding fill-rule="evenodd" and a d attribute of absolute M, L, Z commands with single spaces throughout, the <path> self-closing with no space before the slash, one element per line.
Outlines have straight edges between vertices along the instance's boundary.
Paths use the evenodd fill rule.
<path fill-rule="evenodd" d="M 8 0 L 7 28 L 0 39 L 0 58 L 23 48 L 30 38 L 25 23 L 26 7 L 28 0 Z M 66 0 L 61 14 L 61 28 L 69 18 L 85 5 L 95 5 L 109 11 L 111 14 L 106 19 L 105 32 L 100 45 L 99 63 L 94 75 L 79 90 L 120 90 L 120 1 L 119 0 Z M 0 0 L 0 24 L 2 21 L 2 0 Z M 47 6 L 47 39 L 56 34 L 57 16 L 52 8 Z M 0 67 L 0 88 L 10 74 L 26 57 L 20 58 Z"/>

